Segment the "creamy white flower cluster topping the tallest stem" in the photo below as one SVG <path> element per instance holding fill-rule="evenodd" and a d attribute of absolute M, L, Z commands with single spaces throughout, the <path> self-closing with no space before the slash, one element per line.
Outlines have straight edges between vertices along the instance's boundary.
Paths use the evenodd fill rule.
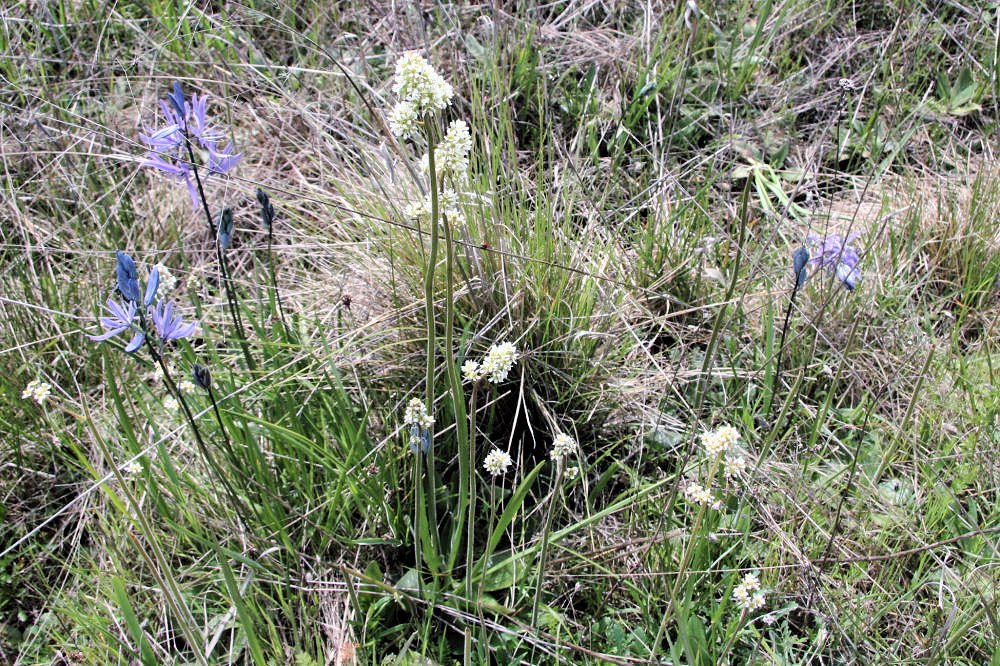
<path fill-rule="evenodd" d="M 451 84 L 417 53 L 407 53 L 396 61 L 392 89 L 399 102 L 389 114 L 389 128 L 402 138 L 416 134 L 420 118 L 447 107 L 455 94 Z"/>

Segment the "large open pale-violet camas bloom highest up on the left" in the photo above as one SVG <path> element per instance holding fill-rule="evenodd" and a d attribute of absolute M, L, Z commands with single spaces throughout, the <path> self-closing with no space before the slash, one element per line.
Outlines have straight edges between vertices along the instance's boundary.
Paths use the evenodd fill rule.
<path fill-rule="evenodd" d="M 192 95 L 187 99 L 180 83 L 175 82 L 173 91 L 167 94 L 167 100 L 160 100 L 160 110 L 166 124 L 159 129 L 139 133 L 139 138 L 150 148 L 143 166 L 159 169 L 183 181 L 195 209 L 198 208 L 199 200 L 192 169 L 196 165 L 190 163 L 187 140 L 190 139 L 193 145 L 200 146 L 207 154 L 206 166 L 210 173 L 228 173 L 242 157 L 242 154 L 234 151 L 232 142 L 227 142 L 220 148 L 226 135 L 206 119 L 207 106 L 207 95 Z"/>

